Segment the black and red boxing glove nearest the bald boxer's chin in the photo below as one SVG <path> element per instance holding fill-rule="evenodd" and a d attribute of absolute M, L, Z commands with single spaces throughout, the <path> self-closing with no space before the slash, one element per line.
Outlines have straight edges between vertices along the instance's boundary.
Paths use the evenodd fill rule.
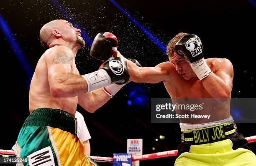
<path fill-rule="evenodd" d="M 90 55 L 98 60 L 108 60 L 117 55 L 118 40 L 112 33 L 105 32 L 96 35 L 92 42 Z"/>

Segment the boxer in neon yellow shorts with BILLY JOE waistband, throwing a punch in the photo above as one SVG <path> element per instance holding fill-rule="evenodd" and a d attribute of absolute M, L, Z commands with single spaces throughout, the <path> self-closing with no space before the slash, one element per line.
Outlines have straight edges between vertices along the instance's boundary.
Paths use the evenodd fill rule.
<path fill-rule="evenodd" d="M 182 143 L 178 146 L 176 166 L 253 166 L 255 154 L 238 133 L 230 116 L 233 65 L 228 59 L 203 58 L 203 47 L 197 35 L 179 33 L 167 45 L 169 62 L 155 67 L 138 67 L 128 62 L 130 80 L 138 83 L 159 83 L 173 101 L 184 98 L 214 100 L 195 114 L 203 118 L 180 118 Z M 182 114 L 182 111 L 176 110 Z"/>

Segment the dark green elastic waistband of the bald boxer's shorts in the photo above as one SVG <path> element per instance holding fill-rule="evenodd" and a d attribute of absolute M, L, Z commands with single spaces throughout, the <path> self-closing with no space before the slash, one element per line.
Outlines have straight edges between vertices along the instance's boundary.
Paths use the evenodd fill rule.
<path fill-rule="evenodd" d="M 25 120 L 25 126 L 51 126 L 77 136 L 77 119 L 61 109 L 38 108 Z"/>

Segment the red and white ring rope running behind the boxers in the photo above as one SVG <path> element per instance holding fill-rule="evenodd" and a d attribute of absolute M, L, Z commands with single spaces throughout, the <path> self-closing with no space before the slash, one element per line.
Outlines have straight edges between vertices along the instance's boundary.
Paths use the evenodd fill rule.
<path fill-rule="evenodd" d="M 256 142 L 256 136 L 250 136 L 245 138 L 248 143 Z M 151 154 L 143 154 L 143 155 L 137 155 L 132 157 L 132 161 L 141 161 L 141 160 L 151 160 L 155 158 L 162 158 L 162 157 L 171 157 L 171 156 L 177 156 L 178 150 L 172 150 L 172 151 L 162 151 L 162 152 L 156 152 Z M 0 154 L 5 155 L 14 155 L 15 153 L 12 150 L 3 150 L 0 149 Z M 90 156 L 95 161 L 113 161 L 113 157 L 100 157 L 100 156 Z"/>

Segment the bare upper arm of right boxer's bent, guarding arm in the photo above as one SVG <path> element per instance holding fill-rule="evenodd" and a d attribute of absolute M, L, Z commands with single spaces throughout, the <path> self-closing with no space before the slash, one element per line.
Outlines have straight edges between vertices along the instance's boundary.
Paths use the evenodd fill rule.
<path fill-rule="evenodd" d="M 215 74 L 225 82 L 226 86 L 232 87 L 234 75 L 232 63 L 228 59 L 222 59 L 216 68 Z"/>

